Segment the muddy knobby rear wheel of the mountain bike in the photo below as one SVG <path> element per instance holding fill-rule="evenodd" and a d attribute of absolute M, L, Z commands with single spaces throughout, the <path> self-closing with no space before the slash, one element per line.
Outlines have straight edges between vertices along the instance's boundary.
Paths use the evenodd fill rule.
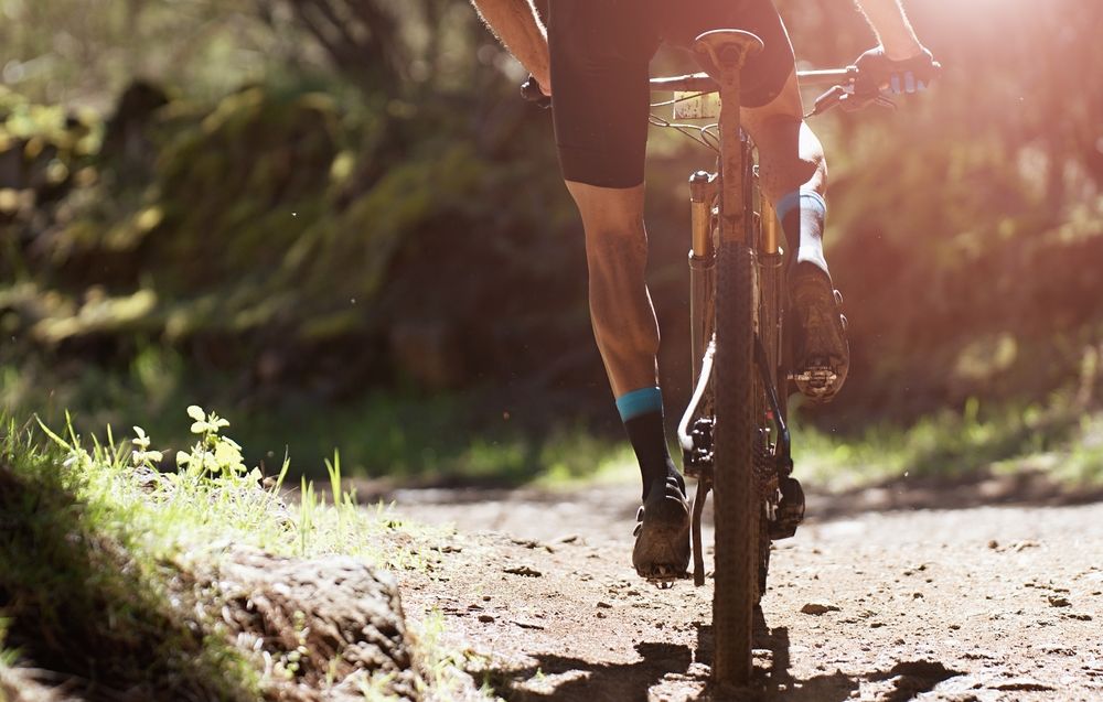
<path fill-rule="evenodd" d="M 751 676 L 753 611 L 759 600 L 761 500 L 754 479 L 761 408 L 756 392 L 757 266 L 749 248 L 724 244 L 716 300 L 716 565 L 713 628 L 718 682 L 745 684 Z"/>

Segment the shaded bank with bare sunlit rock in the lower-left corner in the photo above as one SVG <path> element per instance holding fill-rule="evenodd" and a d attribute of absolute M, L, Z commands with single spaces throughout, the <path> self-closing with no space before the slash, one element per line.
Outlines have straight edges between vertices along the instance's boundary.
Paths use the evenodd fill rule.
<path fill-rule="evenodd" d="M 228 542 L 152 554 L 85 497 L 87 476 L 4 451 L 0 650 L 18 659 L 0 659 L 0 702 L 421 698 L 389 574 Z M 133 477 L 143 492 L 165 479 Z"/>

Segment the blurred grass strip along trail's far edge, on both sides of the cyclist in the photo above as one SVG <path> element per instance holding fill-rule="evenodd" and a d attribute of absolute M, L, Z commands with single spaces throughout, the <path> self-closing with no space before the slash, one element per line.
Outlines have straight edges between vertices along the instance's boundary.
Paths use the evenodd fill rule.
<path fill-rule="evenodd" d="M 190 441 L 173 408 L 218 397 L 229 376 L 200 372 L 175 352 L 141 346 L 127 368 L 82 367 L 74 376 L 26 361 L 0 367 L 0 410 L 41 411 L 64 422 L 60 407 L 81 408 L 78 428 L 147 422 L 161 445 Z M 188 382 L 184 379 L 190 379 Z M 972 400 L 901 426 L 878 422 L 860 433 L 828 434 L 794 421 L 797 471 L 828 489 L 903 475 L 964 475 L 1040 469 L 1070 485 L 1103 483 L 1100 411 L 1075 392 L 1042 403 L 989 406 Z M 489 417 L 480 390 L 427 396 L 409 389 L 366 391 L 326 402 L 285 392 L 272 402 L 231 406 L 235 434 L 250 464 L 277 468 L 296 456 L 292 479 L 325 479 L 325 461 L 340 446 L 342 471 L 405 484 L 536 485 L 557 489 L 593 480 L 632 482 L 634 456 L 622 434 L 595 432 L 566 418 L 545 430 Z M 529 422 L 532 424 L 532 422 Z"/>

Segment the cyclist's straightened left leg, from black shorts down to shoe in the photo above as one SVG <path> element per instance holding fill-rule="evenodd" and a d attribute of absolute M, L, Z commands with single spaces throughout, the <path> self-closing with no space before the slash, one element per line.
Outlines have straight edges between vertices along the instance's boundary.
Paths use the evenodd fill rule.
<path fill-rule="evenodd" d="M 666 446 L 658 324 L 644 280 L 647 64 L 657 36 L 645 13 L 631 9 L 624 2 L 552 2 L 553 119 L 564 179 L 586 230 L 595 337 L 643 478 L 632 561 L 641 575 L 667 577 L 688 565 L 689 512 Z"/>

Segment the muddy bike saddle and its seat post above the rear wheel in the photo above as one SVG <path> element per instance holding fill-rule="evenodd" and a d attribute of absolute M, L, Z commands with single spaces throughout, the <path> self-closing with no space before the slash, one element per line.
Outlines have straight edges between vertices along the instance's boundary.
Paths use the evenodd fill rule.
<path fill-rule="evenodd" d="M 762 51 L 762 40 L 741 30 L 705 32 L 694 42 L 702 67 L 720 86 L 720 240 L 746 240 L 743 144 L 739 123 L 740 73 L 750 56 Z"/>

